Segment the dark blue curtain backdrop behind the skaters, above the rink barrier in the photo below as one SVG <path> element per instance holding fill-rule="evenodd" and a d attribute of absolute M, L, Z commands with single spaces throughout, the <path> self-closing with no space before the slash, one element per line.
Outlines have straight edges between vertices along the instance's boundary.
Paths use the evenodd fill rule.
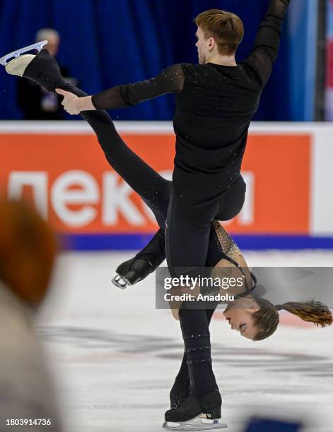
<path fill-rule="evenodd" d="M 142 80 L 177 62 L 197 63 L 193 19 L 203 10 L 238 13 L 245 39 L 238 61 L 250 52 L 268 0 L 0 0 L 1 55 L 34 42 L 40 28 L 59 31 L 59 61 L 94 93 L 120 83 Z M 291 119 L 288 25 L 279 59 L 255 119 Z M 0 119 L 20 119 L 16 78 L 0 71 Z M 169 120 L 173 97 L 160 97 L 113 112 L 119 120 Z"/>

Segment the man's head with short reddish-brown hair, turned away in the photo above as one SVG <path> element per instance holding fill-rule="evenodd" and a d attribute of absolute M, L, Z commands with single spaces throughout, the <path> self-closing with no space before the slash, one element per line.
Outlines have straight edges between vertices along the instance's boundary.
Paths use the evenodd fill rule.
<path fill-rule="evenodd" d="M 235 56 L 244 36 L 244 25 L 239 16 L 220 9 L 210 9 L 199 13 L 194 23 L 198 27 L 195 46 L 199 64 L 208 63 L 216 55 Z"/>

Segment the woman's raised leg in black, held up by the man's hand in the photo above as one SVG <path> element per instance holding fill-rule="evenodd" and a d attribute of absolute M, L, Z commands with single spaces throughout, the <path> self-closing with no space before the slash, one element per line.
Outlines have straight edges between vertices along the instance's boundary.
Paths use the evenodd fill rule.
<path fill-rule="evenodd" d="M 24 57 L 27 64 L 24 66 Z M 16 74 L 30 78 L 49 91 L 61 88 L 74 93 L 78 97 L 86 93 L 67 83 L 61 75 L 59 65 L 47 50 L 42 50 L 31 60 L 32 56 L 21 56 L 20 67 Z M 14 60 L 16 61 L 16 60 Z M 112 119 L 105 111 L 81 112 L 83 119 L 88 121 L 95 131 L 107 161 L 129 186 L 139 193 L 146 204 L 153 210 L 160 227 L 164 228 L 170 197 L 171 182 L 163 179 L 156 171 L 141 160 L 119 136 Z"/>

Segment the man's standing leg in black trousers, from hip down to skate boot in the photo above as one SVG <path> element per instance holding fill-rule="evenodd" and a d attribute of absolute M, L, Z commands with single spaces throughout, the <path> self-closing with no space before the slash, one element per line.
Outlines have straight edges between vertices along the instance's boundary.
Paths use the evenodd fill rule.
<path fill-rule="evenodd" d="M 168 268 L 172 277 L 186 275 L 186 268 L 196 268 L 193 275 L 199 275 L 206 265 L 211 220 L 214 220 L 217 208 L 218 203 L 202 205 L 201 208 L 188 207 L 172 191 L 165 232 Z M 179 316 L 189 371 L 189 391 L 192 396 L 201 397 L 218 390 L 211 365 L 209 320 L 204 308 L 190 309 L 186 303 L 182 304 Z"/>

